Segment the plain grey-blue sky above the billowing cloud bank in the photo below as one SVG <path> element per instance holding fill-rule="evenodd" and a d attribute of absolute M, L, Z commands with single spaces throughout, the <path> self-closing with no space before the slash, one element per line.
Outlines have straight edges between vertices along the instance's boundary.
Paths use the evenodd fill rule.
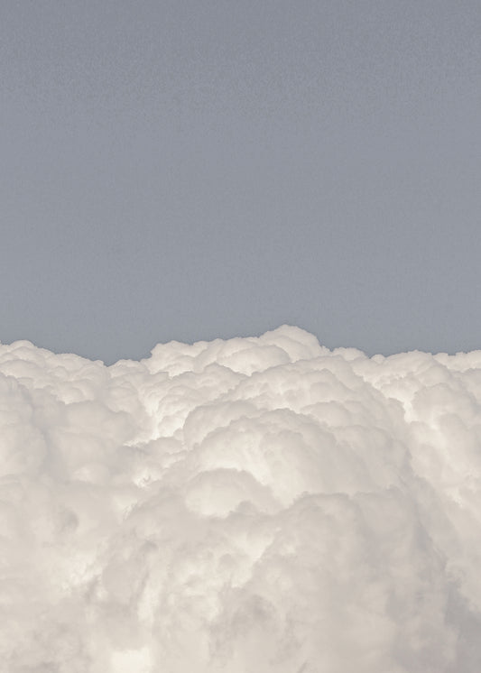
<path fill-rule="evenodd" d="M 0 340 L 481 347 L 479 0 L 0 8 Z"/>

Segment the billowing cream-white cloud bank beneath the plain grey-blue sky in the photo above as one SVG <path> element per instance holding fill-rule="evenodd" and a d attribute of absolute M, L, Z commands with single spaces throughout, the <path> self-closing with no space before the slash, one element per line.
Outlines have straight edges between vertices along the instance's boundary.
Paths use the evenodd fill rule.
<path fill-rule="evenodd" d="M 477 673 L 481 351 L 0 346 L 0 670 Z"/>

